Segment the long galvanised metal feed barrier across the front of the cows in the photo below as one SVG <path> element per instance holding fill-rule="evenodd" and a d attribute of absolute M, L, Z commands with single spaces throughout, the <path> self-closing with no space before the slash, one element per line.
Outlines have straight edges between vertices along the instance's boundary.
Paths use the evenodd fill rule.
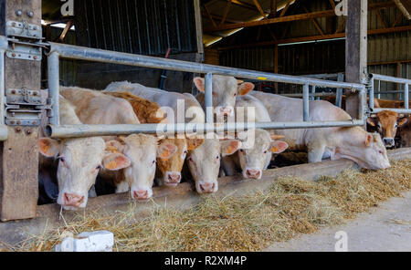
<path fill-rule="evenodd" d="M 219 132 L 235 131 L 237 129 L 247 130 L 251 128 L 264 130 L 288 130 L 288 129 L 309 129 L 309 128 L 332 128 L 332 127 L 354 127 L 364 126 L 364 93 L 365 87 L 361 84 L 335 82 L 321 80 L 317 78 L 301 78 L 258 71 L 225 68 L 211 66 L 193 62 L 185 62 L 159 57 L 147 57 L 132 55 L 108 50 L 94 49 L 90 47 L 76 47 L 56 43 L 49 43 L 50 52 L 48 54 L 48 90 L 52 100 L 53 108 L 50 118 L 50 125 L 46 133 L 51 138 L 74 138 L 88 136 L 112 136 L 127 135 L 132 133 L 156 133 L 165 132 L 168 128 L 175 128 L 175 132 Z M 266 122 L 266 123 L 226 123 L 214 124 L 211 109 L 207 109 L 205 124 L 169 124 L 162 125 L 163 130 L 159 130 L 158 124 L 139 125 L 59 125 L 59 58 L 76 60 L 86 60 L 101 63 L 135 66 L 142 68 L 160 68 L 174 71 L 184 71 L 191 73 L 205 74 L 205 107 L 212 108 L 212 79 L 213 74 L 233 76 L 237 78 L 258 79 L 263 81 L 282 82 L 303 86 L 303 121 L 296 122 Z M 358 112 L 361 119 L 348 121 L 310 121 L 310 86 L 321 88 L 350 88 L 360 93 L 361 100 Z"/>

